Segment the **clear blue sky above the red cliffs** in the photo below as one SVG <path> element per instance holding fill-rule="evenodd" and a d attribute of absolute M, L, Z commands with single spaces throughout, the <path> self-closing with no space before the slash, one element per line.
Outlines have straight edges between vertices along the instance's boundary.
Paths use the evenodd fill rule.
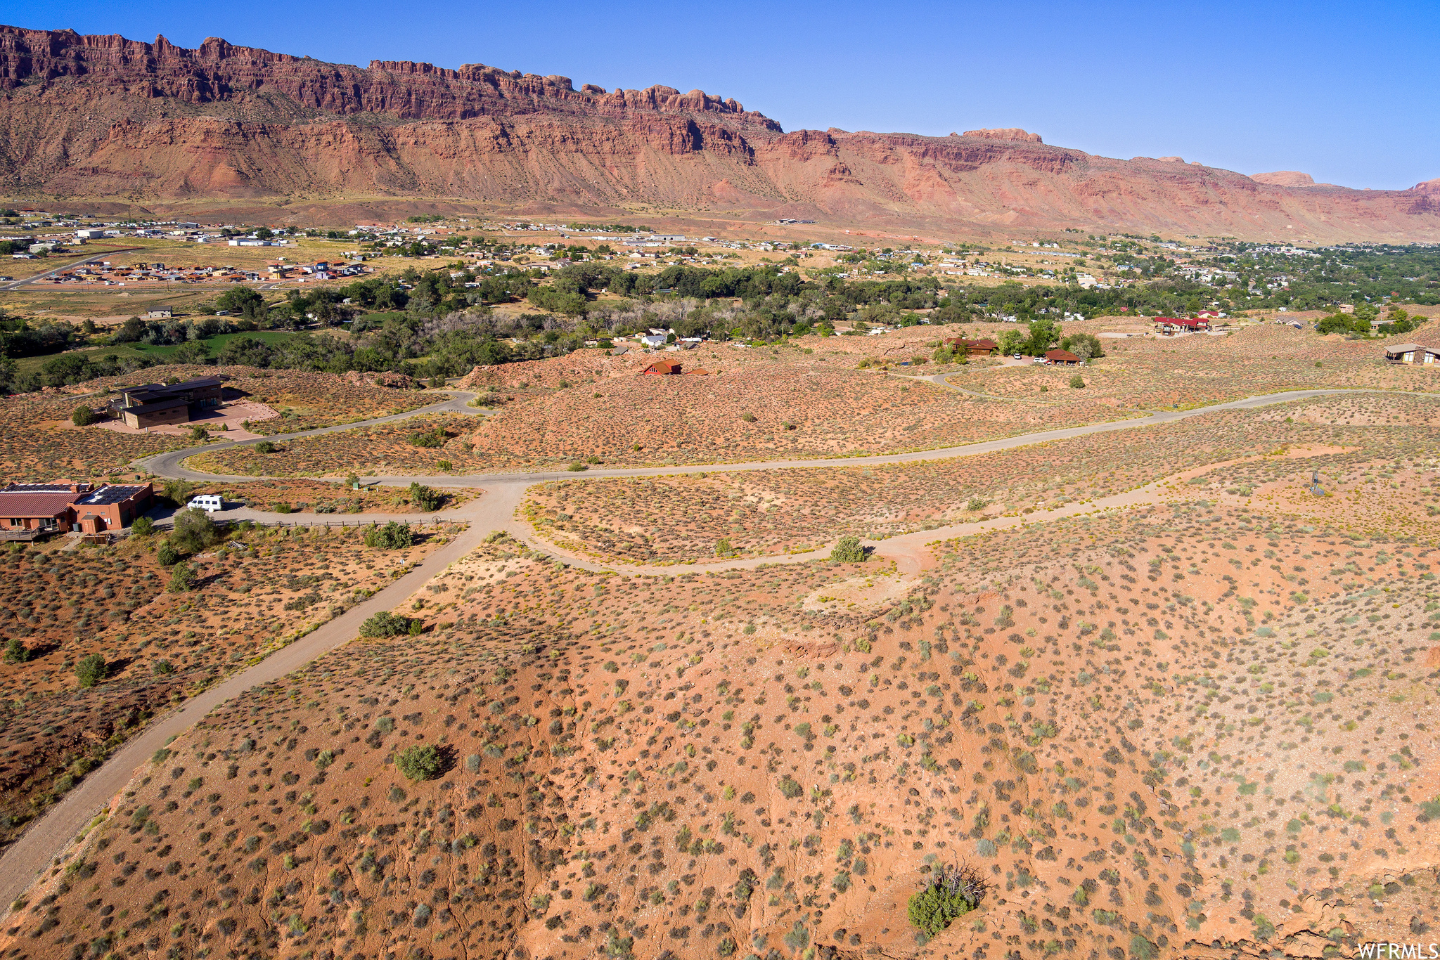
<path fill-rule="evenodd" d="M 1440 3 L 374 3 L 9 0 L 0 20 L 323 60 L 488 63 L 734 96 L 804 127 L 1024 127 L 1349 187 L 1440 177 Z"/>

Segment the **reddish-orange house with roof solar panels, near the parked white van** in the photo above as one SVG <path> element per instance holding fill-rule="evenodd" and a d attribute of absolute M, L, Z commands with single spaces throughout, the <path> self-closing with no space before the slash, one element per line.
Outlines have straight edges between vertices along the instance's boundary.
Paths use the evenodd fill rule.
<path fill-rule="evenodd" d="M 0 537 L 121 530 L 153 505 L 150 484 L 10 484 L 0 488 Z"/>

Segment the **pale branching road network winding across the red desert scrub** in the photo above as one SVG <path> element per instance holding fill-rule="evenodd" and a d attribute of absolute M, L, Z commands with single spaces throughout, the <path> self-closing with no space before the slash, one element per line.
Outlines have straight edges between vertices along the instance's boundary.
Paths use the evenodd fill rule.
<path fill-rule="evenodd" d="M 950 386 L 950 384 L 943 384 Z M 441 515 L 442 521 L 454 521 L 456 524 L 465 524 L 465 528 L 458 533 L 448 544 L 432 553 L 423 563 L 415 567 L 410 573 L 397 579 L 395 583 L 386 589 L 376 593 L 373 597 L 360 603 L 338 617 L 330 620 L 328 623 L 320 626 L 312 633 L 295 640 L 294 643 L 276 651 L 269 655 L 255 666 L 246 668 L 225 681 L 210 687 L 204 692 L 187 699 L 176 711 L 156 718 L 151 721 L 144 731 L 137 734 L 124 747 L 121 747 L 109 760 L 107 760 L 101 767 L 91 771 L 81 783 L 65 794 L 65 799 L 58 805 L 50 807 L 40 820 L 33 823 L 30 829 L 12 845 L 3 856 L 0 856 L 0 904 L 6 905 L 19 897 L 24 889 L 36 881 L 37 875 L 45 871 L 52 862 L 62 856 L 69 845 L 73 842 L 76 833 L 91 822 L 96 813 L 102 812 L 105 806 L 125 787 L 125 784 L 132 777 L 137 767 L 144 764 L 148 757 L 163 747 L 171 737 L 183 733 L 190 725 L 202 720 L 207 712 L 223 704 L 225 701 L 239 697 L 245 691 L 272 682 L 285 676 L 287 674 L 300 669 L 310 661 L 321 656 L 323 653 L 346 643 L 353 636 L 357 635 L 360 623 L 366 617 L 377 613 L 380 610 L 389 610 L 409 597 L 415 590 L 423 586 L 428 580 L 439 574 L 448 564 L 468 554 L 480 541 L 492 530 L 505 530 L 511 535 L 523 540 L 524 543 L 534 545 L 536 548 L 556 554 L 554 547 L 539 543 L 533 537 L 533 531 L 527 530 L 524 524 L 516 520 L 514 512 L 520 505 L 524 491 L 527 486 L 552 479 L 599 479 L 608 476 L 664 476 L 675 474 L 700 474 L 700 472 L 736 472 L 736 471 L 766 471 L 766 469 L 796 469 L 796 468 L 816 468 L 816 466 L 857 466 L 857 465 L 881 465 L 881 463 L 916 463 L 923 461 L 939 461 L 956 456 L 973 456 L 978 453 L 992 453 L 996 450 L 1014 449 L 1018 446 L 1028 446 L 1032 443 L 1045 443 L 1048 440 L 1064 440 L 1077 436 L 1089 436 L 1092 433 L 1107 433 L 1112 430 L 1128 430 L 1138 426 L 1155 426 L 1165 423 L 1175 423 L 1185 420 L 1192 416 L 1201 416 L 1205 413 L 1212 413 L 1217 410 L 1253 410 L 1257 407 L 1273 406 L 1276 403 L 1286 403 L 1290 400 L 1303 400 L 1308 397 L 1331 396 L 1336 393 L 1352 393 L 1346 389 L 1329 389 L 1329 390 L 1290 390 L 1286 393 L 1274 393 L 1269 396 L 1246 397 L 1244 400 L 1233 400 L 1230 403 L 1218 403 L 1208 407 L 1200 407 L 1194 410 L 1162 410 L 1151 413 L 1143 417 L 1132 417 L 1128 420 L 1117 420 L 1113 423 L 1094 423 L 1089 426 L 1074 426 L 1063 427 L 1056 430 L 1040 430 L 1035 433 L 1024 433 L 1020 436 L 1009 436 L 995 440 L 984 440 L 979 443 L 966 443 L 963 446 L 950 446 L 936 450 L 916 450 L 912 453 L 890 453 L 877 456 L 852 456 L 852 458 L 825 458 L 825 459 L 779 459 L 779 461 L 760 461 L 750 463 L 711 463 L 701 466 L 651 466 L 651 468 L 626 468 L 626 469 L 599 469 L 599 471 L 583 471 L 583 472 L 530 472 L 530 474 L 482 474 L 472 476 L 382 476 L 372 478 L 379 479 L 383 484 L 397 484 L 408 485 L 412 481 L 420 481 L 423 484 L 444 485 L 444 486 L 475 486 L 481 488 L 482 495 L 456 511 L 449 511 Z M 395 420 L 418 416 L 422 413 L 436 413 L 436 412 L 456 412 L 464 415 L 482 415 L 481 410 L 475 407 L 465 406 L 465 403 L 474 397 L 474 393 L 468 391 L 452 391 L 452 396 L 445 402 L 433 403 L 416 410 L 409 410 L 406 413 L 390 415 L 384 417 L 376 417 L 373 420 L 363 420 L 359 423 L 347 423 L 340 426 L 318 427 L 314 430 L 302 430 L 298 433 L 288 433 L 274 438 L 262 438 L 269 440 L 291 440 L 305 436 L 318 436 L 323 433 L 334 433 L 338 430 L 350 430 L 360 426 L 372 426 L 376 423 L 390 423 Z M 229 446 L 243 446 L 259 443 L 261 440 L 240 440 L 238 443 L 225 443 L 207 449 L 225 449 Z M 183 450 L 171 450 L 167 453 L 160 453 L 143 461 L 143 463 L 156 475 L 166 478 L 179 479 L 236 479 L 233 476 L 215 476 L 209 474 L 199 474 L 190 471 L 184 466 L 183 461 L 187 456 L 193 456 L 197 450 L 194 448 L 187 448 Z M 1067 508 L 1070 512 L 1079 510 L 1093 510 L 1094 504 L 1083 505 L 1076 504 Z M 367 517 L 379 520 L 380 517 Z M 416 520 L 415 515 L 405 517 L 405 520 Z M 324 520 L 301 520 L 294 514 L 282 515 L 274 514 L 274 520 L 266 518 L 268 522 L 282 522 L 282 524 L 304 524 L 304 525 L 318 525 L 324 524 Z M 338 518 L 336 522 L 341 522 Z M 353 522 L 353 521 L 351 521 Z M 1011 522 L 1009 520 L 1004 521 Z M 1025 518 L 1024 521 L 1014 522 L 1034 522 L 1034 517 Z M 991 525 L 999 525 L 1001 518 L 995 521 L 982 521 L 976 524 L 976 528 L 988 528 Z M 924 541 L 935 540 L 937 537 L 936 531 L 922 531 L 919 534 L 912 534 L 912 538 L 920 537 Z M 896 543 L 900 538 L 894 538 Z M 685 567 L 687 570 L 729 570 L 729 569 L 744 569 L 755 567 L 766 563 L 786 563 L 786 561 L 804 561 L 814 558 L 819 551 L 811 554 L 792 554 L 786 557 L 752 557 L 746 560 L 726 560 L 719 563 L 694 564 Z M 588 560 L 566 557 L 566 563 L 583 567 L 588 570 L 612 570 L 613 566 L 595 564 Z M 674 567 L 664 569 L 668 573 L 674 573 Z M 631 570 L 635 573 L 644 571 L 642 569 Z"/>

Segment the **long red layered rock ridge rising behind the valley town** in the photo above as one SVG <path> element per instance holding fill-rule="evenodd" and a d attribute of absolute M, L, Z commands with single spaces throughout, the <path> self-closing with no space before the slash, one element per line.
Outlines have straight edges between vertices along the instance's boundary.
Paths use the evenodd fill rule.
<path fill-rule="evenodd" d="M 1295 186 L 1094 157 L 1022 130 L 786 134 L 703 91 L 0 27 L 0 193 L 16 200 L 311 200 L 312 219 L 346 199 L 602 214 L 644 203 L 935 232 L 1440 239 L 1424 184 Z"/>

